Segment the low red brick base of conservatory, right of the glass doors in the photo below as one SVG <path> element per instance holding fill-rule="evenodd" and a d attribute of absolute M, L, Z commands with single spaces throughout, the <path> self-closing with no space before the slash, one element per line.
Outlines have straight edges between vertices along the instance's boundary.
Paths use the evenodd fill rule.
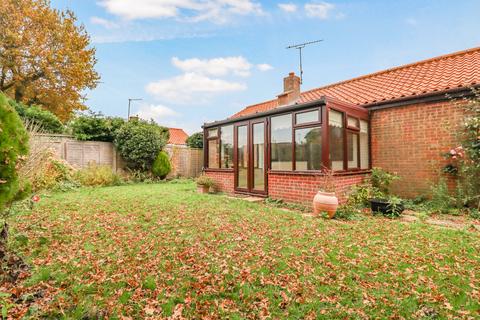
<path fill-rule="evenodd" d="M 336 195 L 345 202 L 353 185 L 361 183 L 366 173 L 335 176 Z M 313 197 L 320 190 L 322 176 L 313 174 L 273 173 L 268 174 L 268 195 L 272 199 L 282 199 L 311 205 Z"/>

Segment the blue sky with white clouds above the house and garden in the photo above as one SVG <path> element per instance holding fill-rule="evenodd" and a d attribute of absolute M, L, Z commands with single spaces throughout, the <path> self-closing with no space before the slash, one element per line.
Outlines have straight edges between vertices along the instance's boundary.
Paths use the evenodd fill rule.
<path fill-rule="evenodd" d="M 86 105 L 201 130 L 276 97 L 480 46 L 480 1 L 52 0 L 91 36 L 101 83 Z"/>

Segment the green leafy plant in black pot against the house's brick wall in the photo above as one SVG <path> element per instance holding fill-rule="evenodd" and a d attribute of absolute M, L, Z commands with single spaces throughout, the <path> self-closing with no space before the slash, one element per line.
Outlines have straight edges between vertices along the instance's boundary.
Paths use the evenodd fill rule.
<path fill-rule="evenodd" d="M 372 169 L 372 188 L 377 190 L 378 194 L 383 195 L 382 197 L 370 199 L 370 208 L 373 213 L 398 217 L 405 210 L 402 199 L 390 195 L 390 184 L 398 179 L 399 177 L 394 173 L 380 168 Z"/>

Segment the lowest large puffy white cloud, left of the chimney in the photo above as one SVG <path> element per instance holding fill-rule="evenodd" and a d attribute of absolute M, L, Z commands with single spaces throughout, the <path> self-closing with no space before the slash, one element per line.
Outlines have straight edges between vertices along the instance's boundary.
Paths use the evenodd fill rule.
<path fill-rule="evenodd" d="M 159 100 L 172 103 L 203 103 L 215 94 L 245 90 L 239 82 L 213 79 L 205 75 L 188 72 L 173 78 L 162 79 L 147 85 L 146 91 Z"/>

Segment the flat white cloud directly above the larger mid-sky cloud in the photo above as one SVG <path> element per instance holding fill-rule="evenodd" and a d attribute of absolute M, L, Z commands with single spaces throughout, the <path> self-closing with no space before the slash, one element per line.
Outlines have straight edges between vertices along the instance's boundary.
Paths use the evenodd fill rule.
<path fill-rule="evenodd" d="M 194 72 L 216 77 L 229 74 L 247 77 L 250 75 L 250 69 L 252 68 L 252 65 L 242 56 L 203 60 L 198 58 L 180 60 L 177 57 L 173 57 L 172 64 L 184 72 Z"/>

